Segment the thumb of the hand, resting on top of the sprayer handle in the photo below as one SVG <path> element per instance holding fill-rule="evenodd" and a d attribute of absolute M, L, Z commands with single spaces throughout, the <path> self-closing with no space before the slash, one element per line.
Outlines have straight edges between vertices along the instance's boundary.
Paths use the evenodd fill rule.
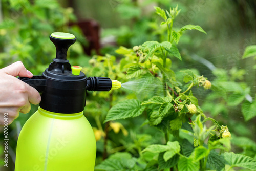
<path fill-rule="evenodd" d="M 31 78 L 33 76 L 33 74 L 24 67 L 24 65 L 21 61 L 12 63 L 11 65 L 9 65 L 1 70 L 3 72 L 5 72 L 6 74 L 12 75 L 14 77 L 19 76 L 19 77 Z"/>

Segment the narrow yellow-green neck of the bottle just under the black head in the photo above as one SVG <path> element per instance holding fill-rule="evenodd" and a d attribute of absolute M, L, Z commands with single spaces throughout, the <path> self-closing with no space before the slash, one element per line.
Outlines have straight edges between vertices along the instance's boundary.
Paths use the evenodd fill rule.
<path fill-rule="evenodd" d="M 62 114 L 62 113 L 55 113 L 55 112 L 50 112 L 50 111 L 44 110 L 40 106 L 38 108 L 38 112 L 41 115 L 44 115 L 44 116 L 49 117 L 49 118 L 65 119 L 65 120 L 79 119 L 83 116 L 83 111 L 78 112 L 78 113 L 72 113 L 72 114 Z"/>

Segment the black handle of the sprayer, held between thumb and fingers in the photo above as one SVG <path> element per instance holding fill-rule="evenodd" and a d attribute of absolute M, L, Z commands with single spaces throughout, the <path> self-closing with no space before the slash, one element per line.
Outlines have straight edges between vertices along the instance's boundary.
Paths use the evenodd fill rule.
<path fill-rule="evenodd" d="M 42 93 L 45 91 L 46 88 L 46 79 L 43 76 L 35 75 L 31 78 L 28 77 L 18 77 L 19 80 L 22 80 L 23 82 L 29 84 L 29 86 L 32 86 L 35 88 L 39 93 Z"/>

